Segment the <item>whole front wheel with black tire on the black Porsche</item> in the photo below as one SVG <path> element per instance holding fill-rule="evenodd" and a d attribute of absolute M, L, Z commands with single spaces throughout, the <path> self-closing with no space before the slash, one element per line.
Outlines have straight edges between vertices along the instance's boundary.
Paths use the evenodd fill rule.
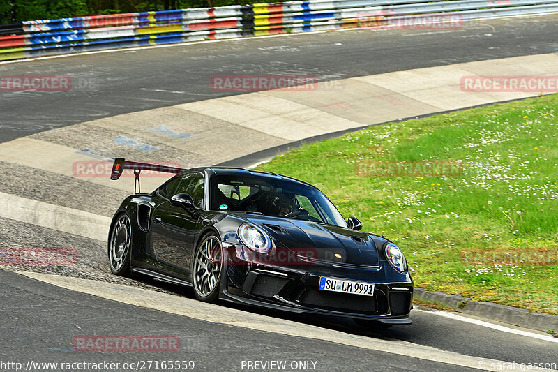
<path fill-rule="evenodd" d="M 199 301 L 216 302 L 223 278 L 223 248 L 217 235 L 210 233 L 198 244 L 192 265 L 192 284 Z"/>

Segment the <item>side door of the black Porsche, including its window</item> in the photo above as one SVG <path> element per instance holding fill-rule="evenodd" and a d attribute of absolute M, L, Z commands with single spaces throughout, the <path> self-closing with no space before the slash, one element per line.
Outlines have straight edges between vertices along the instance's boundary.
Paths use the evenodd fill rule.
<path fill-rule="evenodd" d="M 190 172 L 183 176 L 180 186 L 174 192 L 192 196 L 195 207 L 203 207 L 204 176 L 200 172 Z M 174 195 L 174 194 L 173 194 Z M 168 200 L 153 209 L 150 246 L 155 256 L 167 270 L 180 277 L 188 277 L 193 258 L 195 236 L 199 227 L 199 216 L 191 216 L 182 207 Z"/>

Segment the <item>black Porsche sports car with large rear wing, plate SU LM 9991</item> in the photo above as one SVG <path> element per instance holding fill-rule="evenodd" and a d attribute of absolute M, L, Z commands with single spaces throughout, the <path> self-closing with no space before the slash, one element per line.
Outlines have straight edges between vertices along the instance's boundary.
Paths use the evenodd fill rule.
<path fill-rule="evenodd" d="M 110 269 L 193 287 L 225 299 L 296 313 L 409 325 L 413 281 L 385 237 L 347 221 L 306 182 L 240 168 L 181 168 L 117 158 L 112 179 L 133 169 L 174 172 L 149 194 L 128 196 L 108 237 Z"/>

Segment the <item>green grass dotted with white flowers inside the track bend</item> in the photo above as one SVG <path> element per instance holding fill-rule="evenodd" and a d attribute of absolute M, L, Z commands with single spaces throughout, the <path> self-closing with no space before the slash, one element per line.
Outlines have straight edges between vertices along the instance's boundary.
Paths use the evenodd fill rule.
<path fill-rule="evenodd" d="M 552 95 L 372 126 L 259 169 L 315 184 L 364 231 L 395 241 L 420 287 L 558 314 L 558 265 L 545 261 L 558 251 L 557 114 Z M 357 175 L 369 160 L 462 161 L 462 174 Z M 538 262 L 512 265 L 462 253 L 534 250 Z"/>

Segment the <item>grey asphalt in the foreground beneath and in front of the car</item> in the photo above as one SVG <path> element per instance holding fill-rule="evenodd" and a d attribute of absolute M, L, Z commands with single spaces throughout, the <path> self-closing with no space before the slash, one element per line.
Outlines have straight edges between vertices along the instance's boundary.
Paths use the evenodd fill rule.
<path fill-rule="evenodd" d="M 386 352 L 350 347 L 344 344 L 346 341 L 341 337 L 332 343 L 250 329 L 250 322 L 257 322 L 252 317 L 259 314 L 275 318 L 279 327 L 283 324 L 286 328 L 286 325 L 294 322 L 295 327 L 317 326 L 342 332 L 348 338 L 370 338 L 372 344 L 374 340 L 387 341 L 393 344 L 395 353 L 409 342 L 419 353 L 421 348 L 426 348 L 425 357 L 431 352 L 430 348 L 435 348 L 457 353 L 461 357 L 471 355 L 474 363 L 479 365 L 486 359 L 518 363 L 555 362 L 557 342 L 496 332 L 487 327 L 448 320 L 440 317 L 438 311 L 427 311 L 428 309 L 414 311 L 412 327 L 370 332 L 359 329 L 350 320 L 292 316 L 220 304 L 227 306 L 227 311 L 237 312 L 241 317 L 239 321 L 248 323 L 231 327 L 93 297 L 10 272 L 0 271 L 0 278 L 3 283 L 0 289 L 0 311 L 5 320 L 0 329 L 7 339 L 3 340 L 6 344 L 2 345 L 2 350 L 8 350 L 9 359 L 23 363 L 29 359 L 36 362 L 98 362 L 112 359 L 118 362 L 128 357 L 117 353 L 74 352 L 71 341 L 76 335 L 172 334 L 181 337 L 180 352 L 173 355 L 170 352 L 133 353 L 133 359 L 176 359 L 176 355 L 179 355 L 179 359 L 194 360 L 201 370 L 209 371 L 241 371 L 239 366 L 243 360 L 271 359 L 289 362 L 313 360 L 318 363 L 316 369 L 319 371 L 368 371 L 371 364 L 381 370 L 400 371 L 401 363 L 409 371 L 466 369 L 432 360 L 389 356 Z M 158 285 L 159 290 L 193 298 L 191 290 L 160 282 L 154 284 Z M 224 308 L 213 308 L 216 318 L 220 318 L 219 311 Z"/>

